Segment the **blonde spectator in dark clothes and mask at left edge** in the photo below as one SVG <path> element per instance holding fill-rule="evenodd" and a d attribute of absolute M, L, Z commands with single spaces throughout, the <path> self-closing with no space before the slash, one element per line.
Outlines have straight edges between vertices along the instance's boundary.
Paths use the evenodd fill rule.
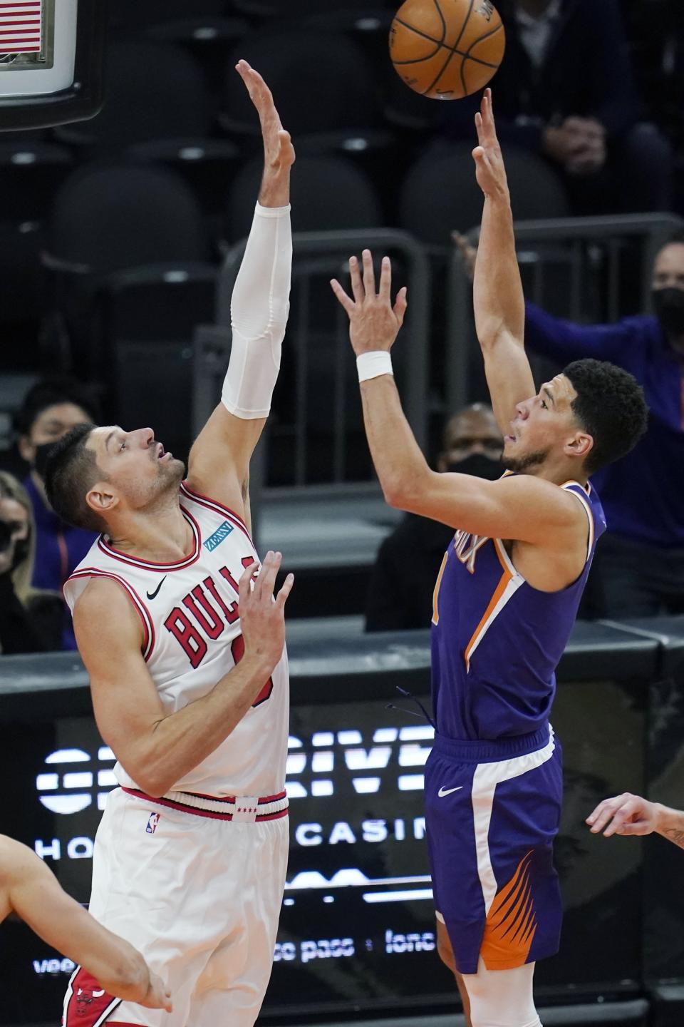
<path fill-rule="evenodd" d="M 56 593 L 31 587 L 35 528 L 31 500 L 11 474 L 0 471 L 0 652 L 62 648 L 64 603 Z"/>

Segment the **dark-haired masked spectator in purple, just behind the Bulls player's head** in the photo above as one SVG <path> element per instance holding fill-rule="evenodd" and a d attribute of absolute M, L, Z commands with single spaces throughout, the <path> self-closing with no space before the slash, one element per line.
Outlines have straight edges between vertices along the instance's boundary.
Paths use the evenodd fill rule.
<path fill-rule="evenodd" d="M 43 472 L 50 447 L 75 425 L 94 423 L 98 410 L 86 386 L 71 378 L 46 378 L 29 389 L 16 416 L 18 449 L 31 465 L 24 484 L 36 524 L 32 585 L 62 595 L 62 586 L 96 535 L 65 524 L 48 505 Z M 65 607 L 66 609 L 66 607 Z M 63 648 L 76 649 L 71 617 L 65 619 Z"/>

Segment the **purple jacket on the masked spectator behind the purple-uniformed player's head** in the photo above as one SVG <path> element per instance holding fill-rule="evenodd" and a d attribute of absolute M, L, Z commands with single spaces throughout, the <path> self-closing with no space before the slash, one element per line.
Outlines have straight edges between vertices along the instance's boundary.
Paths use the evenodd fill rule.
<path fill-rule="evenodd" d="M 593 356 L 631 372 L 650 407 L 648 431 L 621 460 L 594 474 L 613 535 L 684 547 L 684 358 L 655 317 L 579 326 L 525 305 L 525 343 L 561 364 Z"/>

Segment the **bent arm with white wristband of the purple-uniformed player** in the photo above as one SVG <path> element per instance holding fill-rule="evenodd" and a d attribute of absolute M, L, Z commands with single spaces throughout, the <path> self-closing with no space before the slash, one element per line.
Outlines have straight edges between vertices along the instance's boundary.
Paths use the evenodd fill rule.
<path fill-rule="evenodd" d="M 391 506 L 441 521 L 453 528 L 491 538 L 515 538 L 546 545 L 558 543 L 567 530 L 574 537 L 584 517 L 577 500 L 551 482 L 530 474 L 488 482 L 472 474 L 438 473 L 430 468 L 404 416 L 391 370 L 390 352 L 406 311 L 406 290 L 392 305 L 392 268 L 383 258 L 379 290 L 369 250 L 363 252 L 363 277 L 356 257 L 350 260 L 354 299 L 336 279 L 332 291 L 350 319 L 350 339 L 360 373 L 367 354 L 380 364 L 374 377 L 361 381 L 363 421 L 370 454 Z M 560 533 L 560 535 L 559 535 Z"/>

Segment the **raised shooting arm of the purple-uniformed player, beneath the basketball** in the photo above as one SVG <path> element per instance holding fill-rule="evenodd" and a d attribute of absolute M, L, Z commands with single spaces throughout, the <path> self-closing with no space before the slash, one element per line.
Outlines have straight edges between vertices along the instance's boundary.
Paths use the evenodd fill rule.
<path fill-rule="evenodd" d="M 485 197 L 473 279 L 475 327 L 491 405 L 501 433 L 507 434 L 516 404 L 536 390 L 525 353 L 525 300 L 491 89 L 485 89 L 475 124 L 479 144 L 473 151 L 475 174 Z"/>

